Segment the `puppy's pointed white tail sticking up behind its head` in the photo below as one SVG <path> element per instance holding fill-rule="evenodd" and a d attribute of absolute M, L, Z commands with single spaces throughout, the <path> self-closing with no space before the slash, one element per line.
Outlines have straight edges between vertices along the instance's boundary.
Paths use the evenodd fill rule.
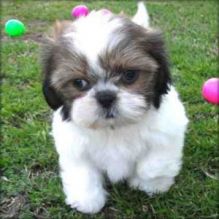
<path fill-rule="evenodd" d="M 143 1 L 138 2 L 137 12 L 134 15 L 134 17 L 132 18 L 132 21 L 138 25 L 145 27 L 145 28 L 150 27 L 150 18 L 148 15 L 146 5 L 144 4 Z"/>

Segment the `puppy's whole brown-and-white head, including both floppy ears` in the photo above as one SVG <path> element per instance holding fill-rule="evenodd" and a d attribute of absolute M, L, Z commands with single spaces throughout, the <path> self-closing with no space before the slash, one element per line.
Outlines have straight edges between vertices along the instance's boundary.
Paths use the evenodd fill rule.
<path fill-rule="evenodd" d="M 43 62 L 48 104 L 93 129 L 138 122 L 170 81 L 160 33 L 99 12 L 57 23 Z"/>

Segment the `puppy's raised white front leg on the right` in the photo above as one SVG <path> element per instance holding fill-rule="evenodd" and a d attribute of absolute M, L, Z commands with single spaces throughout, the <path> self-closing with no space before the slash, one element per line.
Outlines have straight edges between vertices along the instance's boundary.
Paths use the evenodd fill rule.
<path fill-rule="evenodd" d="M 135 175 L 129 179 L 129 184 L 148 195 L 166 192 L 174 183 L 181 163 L 180 152 L 174 155 L 164 151 L 149 153 L 137 163 Z"/>

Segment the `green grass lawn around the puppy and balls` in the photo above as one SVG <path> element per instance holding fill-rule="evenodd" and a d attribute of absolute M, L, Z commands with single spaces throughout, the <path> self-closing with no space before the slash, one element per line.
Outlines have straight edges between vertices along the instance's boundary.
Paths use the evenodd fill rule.
<path fill-rule="evenodd" d="M 40 39 L 56 19 L 71 19 L 79 1 L 3 1 L 1 9 L 1 215 L 0 218 L 218 218 L 217 108 L 201 97 L 218 74 L 217 1 L 148 1 L 152 24 L 164 31 L 174 83 L 190 125 L 184 166 L 166 194 L 148 197 L 126 184 L 108 185 L 106 207 L 88 217 L 64 203 L 51 111 L 41 92 Z M 135 1 L 86 1 L 133 15 Z M 4 23 L 18 18 L 28 32 L 9 39 Z"/>

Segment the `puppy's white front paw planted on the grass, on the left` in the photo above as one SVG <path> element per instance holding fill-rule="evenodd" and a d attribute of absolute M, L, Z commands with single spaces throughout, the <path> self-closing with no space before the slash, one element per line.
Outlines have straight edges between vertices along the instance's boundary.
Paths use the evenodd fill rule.
<path fill-rule="evenodd" d="M 94 189 L 92 191 L 85 191 L 74 196 L 67 195 L 65 200 L 67 205 L 76 208 L 78 211 L 88 214 L 95 214 L 99 212 L 106 201 L 106 192 L 103 189 Z"/>

